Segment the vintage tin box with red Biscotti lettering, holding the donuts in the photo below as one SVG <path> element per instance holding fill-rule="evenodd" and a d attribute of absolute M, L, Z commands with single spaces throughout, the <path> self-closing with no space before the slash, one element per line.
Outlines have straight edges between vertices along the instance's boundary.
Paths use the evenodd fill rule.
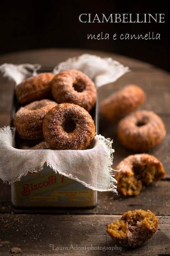
<path fill-rule="evenodd" d="M 11 127 L 15 112 L 19 107 L 14 95 L 10 118 Z M 97 132 L 97 106 L 90 114 L 94 119 Z M 97 204 L 97 191 L 88 189 L 81 183 L 59 173 L 56 174 L 44 164 L 42 171 L 28 173 L 20 181 L 11 184 L 11 202 L 15 207 L 94 208 Z"/>

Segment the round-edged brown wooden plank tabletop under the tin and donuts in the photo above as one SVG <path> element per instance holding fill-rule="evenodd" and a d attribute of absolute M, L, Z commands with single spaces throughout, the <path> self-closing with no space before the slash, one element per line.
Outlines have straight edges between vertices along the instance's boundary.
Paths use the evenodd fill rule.
<path fill-rule="evenodd" d="M 20 247 L 23 251 L 20 255 L 170 255 L 169 74 L 135 59 L 78 49 L 10 53 L 0 57 L 0 65 L 5 62 L 39 63 L 43 69 L 51 71 L 58 62 L 83 53 L 112 57 L 130 67 L 131 72 L 99 89 L 99 101 L 126 84 L 132 83 L 143 88 L 147 99 L 140 109 L 156 112 L 166 126 L 165 140 L 148 152 L 163 163 L 166 176 L 136 197 L 125 198 L 111 192 L 98 193 L 98 205 L 94 209 L 16 209 L 10 203 L 10 186 L 0 181 L 0 256 L 12 255 L 9 252 L 12 247 Z M 13 83 L 0 74 L 0 127 L 9 125 L 12 94 Z M 114 140 L 113 168 L 124 157 L 133 154 L 119 144 L 116 129 L 117 124 L 109 125 L 100 119 L 99 132 Z M 106 233 L 106 225 L 120 218 L 125 211 L 138 208 L 153 211 L 159 219 L 159 228 L 143 246 L 133 250 L 120 248 Z M 106 247 L 112 247 L 113 251 Z"/>

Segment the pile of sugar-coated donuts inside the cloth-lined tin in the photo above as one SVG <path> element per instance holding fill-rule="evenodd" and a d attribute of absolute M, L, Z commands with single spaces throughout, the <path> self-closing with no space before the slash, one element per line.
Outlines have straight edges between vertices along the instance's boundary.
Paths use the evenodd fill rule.
<path fill-rule="evenodd" d="M 16 86 L 21 106 L 14 116 L 19 149 L 84 150 L 95 136 L 89 111 L 96 88 L 78 70 L 41 73 Z"/>

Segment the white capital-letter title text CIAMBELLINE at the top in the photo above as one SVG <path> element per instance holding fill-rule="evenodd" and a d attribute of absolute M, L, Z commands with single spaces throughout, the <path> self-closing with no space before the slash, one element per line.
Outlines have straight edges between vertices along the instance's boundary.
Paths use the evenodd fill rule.
<path fill-rule="evenodd" d="M 109 15 L 81 13 L 79 15 L 79 21 L 82 23 L 164 23 L 164 18 L 164 13 L 111 13 Z"/>

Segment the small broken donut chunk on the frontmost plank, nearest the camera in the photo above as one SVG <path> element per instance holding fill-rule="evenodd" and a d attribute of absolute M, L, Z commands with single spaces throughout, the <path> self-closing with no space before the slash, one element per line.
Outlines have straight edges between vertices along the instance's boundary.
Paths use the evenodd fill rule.
<path fill-rule="evenodd" d="M 135 248 L 150 239 L 157 227 L 155 214 L 139 209 L 125 212 L 120 220 L 107 226 L 107 232 L 116 243 Z"/>

